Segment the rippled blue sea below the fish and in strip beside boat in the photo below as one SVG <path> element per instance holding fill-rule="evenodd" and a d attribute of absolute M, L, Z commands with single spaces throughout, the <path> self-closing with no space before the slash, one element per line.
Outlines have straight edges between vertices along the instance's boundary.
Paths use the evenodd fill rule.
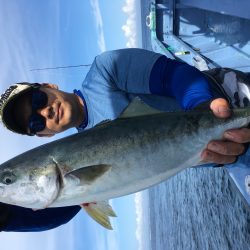
<path fill-rule="evenodd" d="M 150 2 L 141 0 L 142 24 Z M 146 26 L 142 36 L 150 49 Z M 250 249 L 250 208 L 224 168 L 187 169 L 143 201 L 143 250 Z"/>

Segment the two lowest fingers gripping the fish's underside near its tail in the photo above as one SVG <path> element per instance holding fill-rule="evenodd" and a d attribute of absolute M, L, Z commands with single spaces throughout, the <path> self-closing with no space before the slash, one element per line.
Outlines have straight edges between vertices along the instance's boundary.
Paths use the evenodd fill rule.
<path fill-rule="evenodd" d="M 236 161 L 237 156 L 243 154 L 245 146 L 232 141 L 210 141 L 201 153 L 203 162 L 228 164 Z"/>

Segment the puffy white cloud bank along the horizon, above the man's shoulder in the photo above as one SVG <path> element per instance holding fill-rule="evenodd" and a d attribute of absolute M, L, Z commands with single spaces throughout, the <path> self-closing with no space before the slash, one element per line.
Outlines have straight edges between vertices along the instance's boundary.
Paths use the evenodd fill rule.
<path fill-rule="evenodd" d="M 140 9 L 136 0 L 126 0 L 122 11 L 128 15 L 126 24 L 122 26 L 125 37 L 128 39 L 127 47 L 138 47 L 140 43 Z"/>

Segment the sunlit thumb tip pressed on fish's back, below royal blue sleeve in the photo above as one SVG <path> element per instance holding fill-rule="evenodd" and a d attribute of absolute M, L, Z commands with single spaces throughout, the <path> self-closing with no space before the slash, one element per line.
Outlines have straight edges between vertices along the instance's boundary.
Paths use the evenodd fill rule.
<path fill-rule="evenodd" d="M 229 103 L 224 98 L 214 99 L 210 103 L 210 109 L 218 118 L 228 118 L 231 115 Z"/>

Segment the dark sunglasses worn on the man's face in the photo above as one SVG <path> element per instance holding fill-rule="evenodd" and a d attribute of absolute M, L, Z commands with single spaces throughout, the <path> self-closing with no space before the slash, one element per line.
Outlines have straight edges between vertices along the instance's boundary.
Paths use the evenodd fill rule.
<path fill-rule="evenodd" d="M 35 135 L 46 127 L 46 119 L 37 113 L 38 109 L 44 108 L 48 103 L 48 96 L 39 88 L 34 88 L 31 92 L 32 113 L 28 121 L 30 135 Z"/>

